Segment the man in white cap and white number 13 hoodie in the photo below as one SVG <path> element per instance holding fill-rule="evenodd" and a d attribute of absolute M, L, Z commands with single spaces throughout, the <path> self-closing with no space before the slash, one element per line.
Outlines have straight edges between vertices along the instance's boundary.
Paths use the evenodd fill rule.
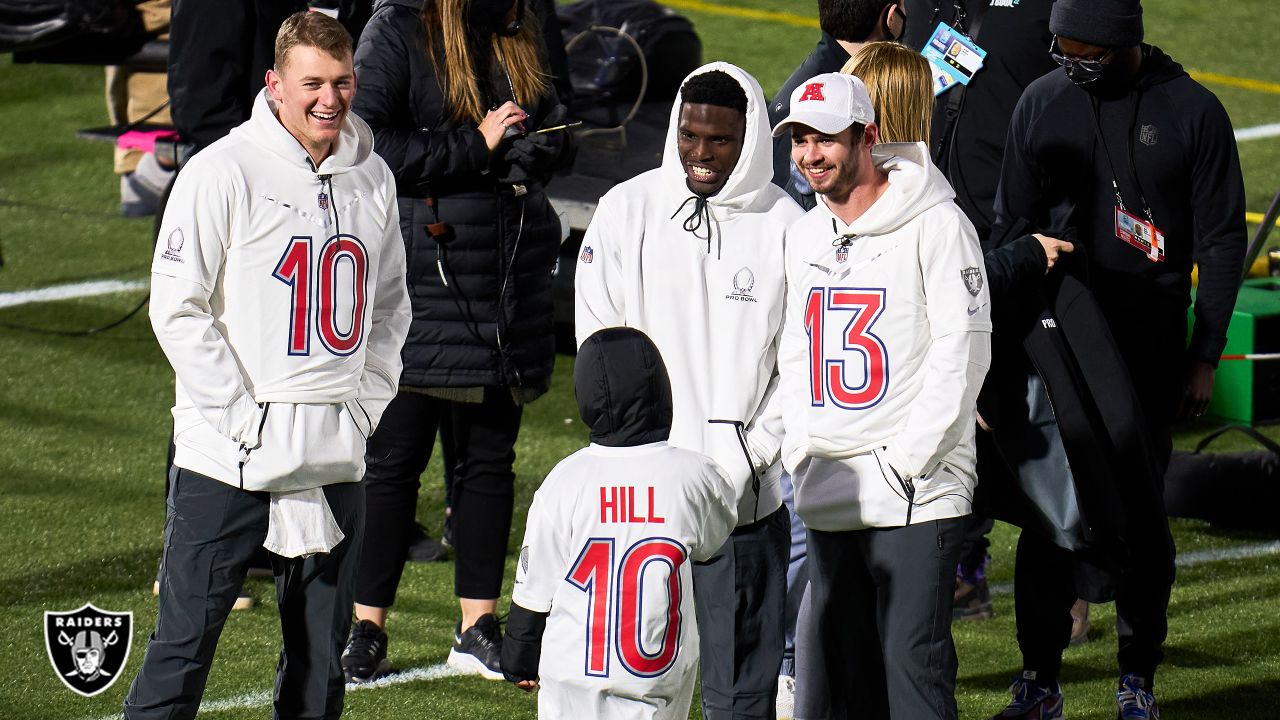
<path fill-rule="evenodd" d="M 973 225 L 924 143 L 877 145 L 867 88 L 791 96 L 792 159 L 819 197 L 787 231 L 778 365 L 810 611 L 796 717 L 956 716 L 951 596 L 974 487 L 989 299 Z"/>

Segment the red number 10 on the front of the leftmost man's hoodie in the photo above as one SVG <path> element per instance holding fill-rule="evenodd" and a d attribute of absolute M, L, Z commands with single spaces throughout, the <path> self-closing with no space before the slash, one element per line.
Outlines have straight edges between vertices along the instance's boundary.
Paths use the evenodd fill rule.
<path fill-rule="evenodd" d="M 351 355 L 364 341 L 369 255 L 355 236 L 335 234 L 324 241 L 312 268 L 312 245 L 310 236 L 292 237 L 273 273 L 292 291 L 289 355 L 311 355 L 312 314 L 325 350 L 334 355 Z M 346 272 L 342 272 L 343 266 Z M 348 282 L 343 282 L 344 275 Z M 349 304 L 342 301 L 344 293 L 349 293 Z M 348 313 L 339 318 L 344 305 Z M 347 325 L 346 332 L 340 325 Z"/>

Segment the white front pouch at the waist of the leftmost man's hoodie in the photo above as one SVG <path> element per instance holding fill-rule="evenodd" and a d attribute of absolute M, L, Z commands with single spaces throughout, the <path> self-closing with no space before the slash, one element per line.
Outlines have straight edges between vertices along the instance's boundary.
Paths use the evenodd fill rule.
<path fill-rule="evenodd" d="M 367 415 L 356 401 L 273 402 L 259 446 L 243 466 L 248 491 L 289 491 L 356 482 L 365 474 Z"/>

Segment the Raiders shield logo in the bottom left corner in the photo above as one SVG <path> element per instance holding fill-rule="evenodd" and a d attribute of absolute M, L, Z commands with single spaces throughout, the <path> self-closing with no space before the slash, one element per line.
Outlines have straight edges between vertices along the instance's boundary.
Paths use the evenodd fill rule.
<path fill-rule="evenodd" d="M 108 612 L 92 603 L 45 612 L 45 651 L 64 685 L 93 697 L 120 678 L 133 642 L 133 612 Z"/>

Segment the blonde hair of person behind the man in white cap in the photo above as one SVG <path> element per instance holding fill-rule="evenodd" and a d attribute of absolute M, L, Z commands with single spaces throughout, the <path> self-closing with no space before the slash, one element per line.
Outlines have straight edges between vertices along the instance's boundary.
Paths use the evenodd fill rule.
<path fill-rule="evenodd" d="M 868 42 L 840 72 L 867 86 L 881 142 L 929 143 L 933 73 L 923 55 L 901 42 Z"/>

